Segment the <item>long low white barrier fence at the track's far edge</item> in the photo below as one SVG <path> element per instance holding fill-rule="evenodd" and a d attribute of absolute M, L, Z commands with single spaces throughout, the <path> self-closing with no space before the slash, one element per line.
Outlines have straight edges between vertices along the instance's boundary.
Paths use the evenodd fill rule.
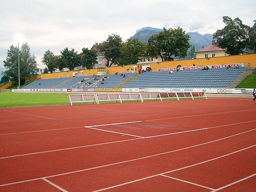
<path fill-rule="evenodd" d="M 196 98 L 206 98 L 206 93 L 204 92 L 182 92 L 182 93 L 99 93 L 99 94 L 82 94 L 82 95 L 69 95 L 67 98 L 67 103 L 73 105 L 73 103 L 95 103 L 99 102 L 123 102 L 123 101 L 146 101 L 146 100 L 165 100 L 165 99 L 193 99 Z"/>

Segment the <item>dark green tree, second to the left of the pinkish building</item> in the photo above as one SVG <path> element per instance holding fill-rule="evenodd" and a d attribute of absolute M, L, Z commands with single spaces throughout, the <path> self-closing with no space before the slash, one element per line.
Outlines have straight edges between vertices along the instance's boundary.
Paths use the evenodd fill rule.
<path fill-rule="evenodd" d="M 75 49 L 73 48 L 71 48 L 71 50 L 69 50 L 68 47 L 64 48 L 61 51 L 61 58 L 66 61 L 66 67 L 69 68 L 69 70 L 74 70 L 80 65 L 79 55 L 77 54 L 77 52 L 75 52 Z"/>

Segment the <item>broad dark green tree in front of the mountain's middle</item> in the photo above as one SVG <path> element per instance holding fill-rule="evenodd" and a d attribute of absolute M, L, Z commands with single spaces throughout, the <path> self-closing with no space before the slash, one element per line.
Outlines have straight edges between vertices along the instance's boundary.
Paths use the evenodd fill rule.
<path fill-rule="evenodd" d="M 157 58 L 160 55 L 162 61 L 171 61 L 172 56 L 186 57 L 189 49 L 189 35 L 182 28 L 166 29 L 163 32 L 152 35 L 148 39 L 148 53 Z"/>

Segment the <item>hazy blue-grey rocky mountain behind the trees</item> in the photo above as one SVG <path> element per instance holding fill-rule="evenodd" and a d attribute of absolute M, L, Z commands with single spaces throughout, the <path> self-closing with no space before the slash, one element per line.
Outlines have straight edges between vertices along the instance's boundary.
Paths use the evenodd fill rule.
<path fill-rule="evenodd" d="M 163 29 L 157 29 L 153 27 L 144 27 L 136 31 L 135 35 L 131 37 L 131 39 L 138 38 L 141 42 L 148 42 L 148 38 L 151 35 L 157 34 L 163 31 Z M 189 43 L 191 45 L 195 45 L 195 50 L 201 49 L 212 43 L 212 34 L 201 35 L 198 32 L 188 32 L 190 40 Z"/>

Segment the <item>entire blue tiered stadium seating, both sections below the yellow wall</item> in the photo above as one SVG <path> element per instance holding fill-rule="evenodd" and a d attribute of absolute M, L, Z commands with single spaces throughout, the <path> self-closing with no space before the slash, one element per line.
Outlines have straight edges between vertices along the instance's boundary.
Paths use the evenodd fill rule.
<path fill-rule="evenodd" d="M 169 71 L 145 72 L 122 85 L 121 88 L 226 88 L 246 68 L 180 70 L 172 74 L 169 74 Z M 93 80 L 93 76 L 39 79 L 23 87 L 23 89 L 114 88 L 132 75 L 133 73 L 127 73 L 124 78 L 120 74 L 107 75 L 108 78 L 105 79 L 104 84 L 101 84 L 100 81 L 104 76 L 100 76 L 99 80 Z M 82 79 L 84 79 L 84 82 L 81 82 Z M 86 84 L 86 81 L 90 81 L 91 84 Z M 38 85 L 39 83 L 40 85 Z"/>

